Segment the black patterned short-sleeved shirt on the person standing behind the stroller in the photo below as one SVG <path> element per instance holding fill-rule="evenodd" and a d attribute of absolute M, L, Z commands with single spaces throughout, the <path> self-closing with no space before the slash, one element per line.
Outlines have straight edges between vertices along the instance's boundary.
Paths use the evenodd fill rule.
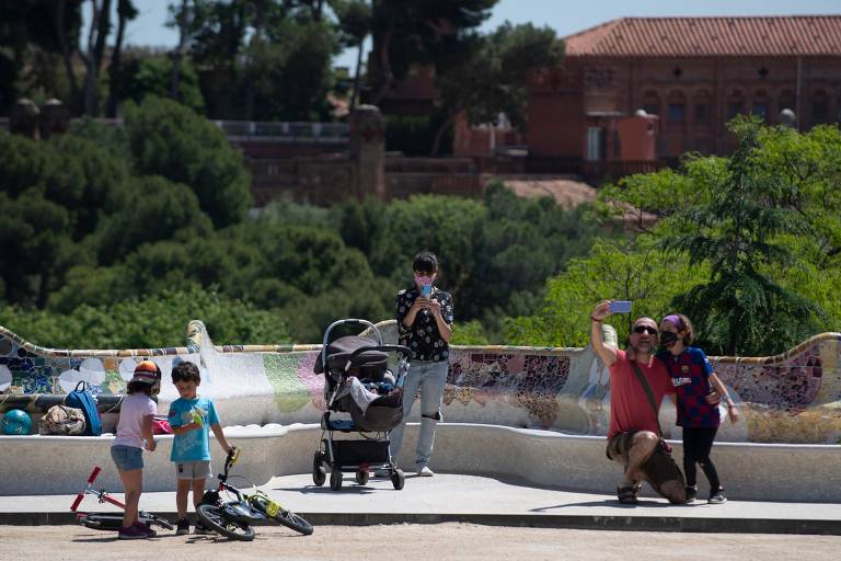
<path fill-rule="evenodd" d="M 408 313 L 408 309 L 414 304 L 415 298 L 420 296 L 416 287 L 407 288 L 398 293 L 398 333 L 400 344 L 412 350 L 411 359 L 414 360 L 447 360 L 450 356 L 450 345 L 441 339 L 438 332 L 438 325 L 435 317 L 429 310 L 420 310 L 415 316 L 415 322 L 411 328 L 403 325 L 403 318 Z M 449 293 L 433 287 L 433 299 L 441 305 L 441 317 L 448 325 L 452 325 L 452 296 Z"/>

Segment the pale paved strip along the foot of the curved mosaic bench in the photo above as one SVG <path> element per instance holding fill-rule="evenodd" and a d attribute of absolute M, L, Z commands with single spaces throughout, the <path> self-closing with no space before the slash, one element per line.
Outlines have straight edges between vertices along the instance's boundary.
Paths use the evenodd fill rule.
<path fill-rule="evenodd" d="M 231 479 L 233 484 L 246 483 Z M 83 481 L 80 481 L 80 488 Z M 640 505 L 620 505 L 612 494 L 544 489 L 510 479 L 438 473 L 406 477 L 395 491 L 388 479 L 358 485 L 352 473 L 334 492 L 315 486 L 309 474 L 272 479 L 261 489 L 313 525 L 435 524 L 466 522 L 497 526 L 578 529 L 700 531 L 729 534 L 841 535 L 841 504 L 696 501 L 670 505 L 652 495 Z M 703 488 L 702 488 L 703 489 Z M 115 494 L 122 500 L 120 494 Z M 705 496 L 702 491 L 702 496 Z M 0 525 L 72 524 L 74 495 L 0 496 Z M 141 508 L 175 519 L 175 493 L 145 493 Z M 117 512 L 85 496 L 80 510 Z"/>

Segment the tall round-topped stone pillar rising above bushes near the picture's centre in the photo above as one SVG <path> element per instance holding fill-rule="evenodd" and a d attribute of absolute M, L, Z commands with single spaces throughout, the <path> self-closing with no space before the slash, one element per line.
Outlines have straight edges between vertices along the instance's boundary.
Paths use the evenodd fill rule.
<path fill-rule="evenodd" d="M 385 118 L 375 105 L 359 105 L 349 117 L 354 194 L 385 199 Z"/>

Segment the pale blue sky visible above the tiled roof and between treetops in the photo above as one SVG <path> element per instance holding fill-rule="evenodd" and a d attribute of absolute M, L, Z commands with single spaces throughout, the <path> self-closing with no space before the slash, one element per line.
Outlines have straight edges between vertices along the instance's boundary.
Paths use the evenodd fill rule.
<path fill-rule="evenodd" d="M 116 3 L 116 2 L 115 2 Z M 126 28 L 127 45 L 172 47 L 177 43 L 175 30 L 166 27 L 166 7 L 172 0 L 135 0 L 140 15 Z M 85 20 L 90 8 L 85 3 Z M 499 0 L 493 15 L 482 26 L 491 31 L 503 22 L 548 25 L 560 37 L 622 16 L 653 15 L 794 15 L 841 14 L 839 0 Z M 369 45 L 370 46 L 370 45 Z M 346 50 L 336 57 L 335 66 L 354 67 L 356 53 Z M 353 68 L 352 68 L 353 69 Z"/>

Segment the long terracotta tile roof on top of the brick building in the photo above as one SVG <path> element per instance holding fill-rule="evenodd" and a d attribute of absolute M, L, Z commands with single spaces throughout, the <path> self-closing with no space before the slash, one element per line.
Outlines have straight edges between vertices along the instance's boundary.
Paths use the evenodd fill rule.
<path fill-rule="evenodd" d="M 565 37 L 567 56 L 841 56 L 841 15 L 620 18 Z"/>

